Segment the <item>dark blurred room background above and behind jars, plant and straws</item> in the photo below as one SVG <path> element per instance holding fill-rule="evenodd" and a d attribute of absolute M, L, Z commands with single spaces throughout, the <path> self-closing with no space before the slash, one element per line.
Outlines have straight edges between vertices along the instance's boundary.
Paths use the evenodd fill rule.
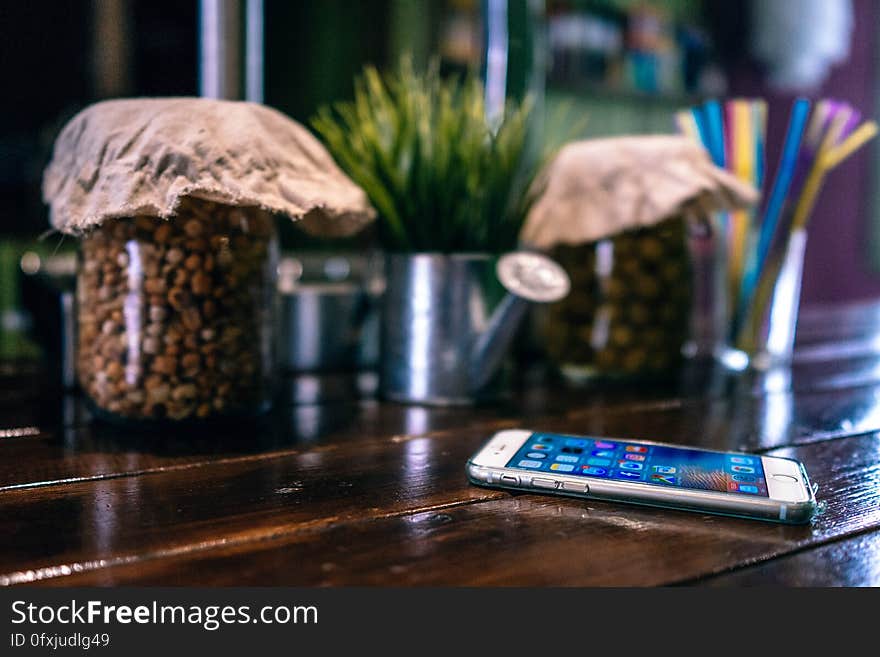
<path fill-rule="evenodd" d="M 57 132 L 95 101 L 249 98 L 307 124 L 320 105 L 351 97 L 365 63 L 409 53 L 420 66 L 438 56 L 444 71 L 478 71 L 496 102 L 534 94 L 547 138 L 570 128 L 560 117 L 586 116 L 583 136 L 672 132 L 681 107 L 763 96 L 774 168 L 797 95 L 876 116 L 878 14 L 875 0 L 0 3 L 0 357 L 36 349 L 24 275 L 59 254 L 64 270 L 75 252 L 44 235 L 40 180 Z M 805 304 L 880 295 L 875 157 L 859 153 L 822 194 Z M 282 238 L 287 248 L 302 239 Z"/>

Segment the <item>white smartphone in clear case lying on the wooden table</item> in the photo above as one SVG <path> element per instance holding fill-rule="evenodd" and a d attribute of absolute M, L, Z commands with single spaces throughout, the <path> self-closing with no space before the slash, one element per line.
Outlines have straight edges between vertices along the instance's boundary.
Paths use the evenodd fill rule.
<path fill-rule="evenodd" d="M 482 486 L 791 524 L 816 512 L 798 461 L 655 442 L 501 431 L 471 457 L 467 474 Z"/>

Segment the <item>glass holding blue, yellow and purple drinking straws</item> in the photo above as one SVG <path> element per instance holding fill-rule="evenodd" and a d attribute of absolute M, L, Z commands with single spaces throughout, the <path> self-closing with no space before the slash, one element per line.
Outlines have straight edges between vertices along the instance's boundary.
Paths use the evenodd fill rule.
<path fill-rule="evenodd" d="M 719 335 L 723 360 L 740 369 L 768 369 L 791 360 L 807 229 L 828 173 L 877 134 L 845 102 L 794 101 L 779 163 L 766 175 L 767 103 L 710 100 L 676 113 L 678 129 L 702 143 L 713 162 L 762 191 L 752 210 L 719 213 L 723 242 L 714 263 L 726 300 Z M 726 293 L 726 294 L 725 294 Z"/>

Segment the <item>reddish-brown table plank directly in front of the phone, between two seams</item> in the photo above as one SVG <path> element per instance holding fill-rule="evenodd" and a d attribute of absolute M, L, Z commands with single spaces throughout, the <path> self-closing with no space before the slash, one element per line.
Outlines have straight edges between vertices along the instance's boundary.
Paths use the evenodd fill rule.
<path fill-rule="evenodd" d="M 780 452 L 803 459 L 819 484 L 827 509 L 811 526 L 504 494 L 123 559 L 69 582 L 176 585 L 210 573 L 218 585 L 672 584 L 880 526 L 878 449 L 880 438 L 864 436 Z"/>

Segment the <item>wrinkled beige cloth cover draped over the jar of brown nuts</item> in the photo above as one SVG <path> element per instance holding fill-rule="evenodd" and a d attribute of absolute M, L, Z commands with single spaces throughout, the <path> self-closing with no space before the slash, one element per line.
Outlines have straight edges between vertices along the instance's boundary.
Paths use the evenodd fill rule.
<path fill-rule="evenodd" d="M 52 225 L 70 234 L 118 217 L 168 218 L 185 196 L 258 206 L 325 237 L 351 235 L 376 214 L 306 128 L 249 102 L 91 105 L 61 131 L 43 176 Z"/>

